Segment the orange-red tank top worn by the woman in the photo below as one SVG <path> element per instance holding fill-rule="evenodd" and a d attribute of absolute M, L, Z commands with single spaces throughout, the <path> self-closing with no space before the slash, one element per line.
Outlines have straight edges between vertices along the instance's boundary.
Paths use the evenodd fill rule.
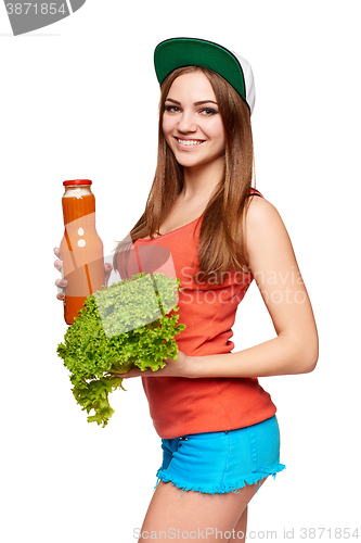
<path fill-rule="evenodd" d="M 197 247 L 202 217 L 153 239 L 134 243 L 141 270 L 164 272 L 181 281 L 176 337 L 190 356 L 230 353 L 235 313 L 252 274 L 229 270 L 222 283 L 197 278 Z M 276 407 L 256 378 L 143 377 L 154 427 L 160 438 L 232 430 L 272 417 Z"/>

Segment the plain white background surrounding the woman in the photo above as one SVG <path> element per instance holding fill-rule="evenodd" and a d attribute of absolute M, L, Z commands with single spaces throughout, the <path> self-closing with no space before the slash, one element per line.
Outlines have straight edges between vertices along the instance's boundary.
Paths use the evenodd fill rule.
<path fill-rule="evenodd" d="M 300 541 L 301 527 L 357 528 L 359 35 L 348 0 L 88 0 L 18 37 L 0 5 L 4 543 L 134 541 L 152 496 L 160 447 L 140 380 L 113 394 L 105 429 L 72 395 L 56 356 L 66 325 L 52 251 L 65 179 L 92 179 L 107 254 L 139 218 L 156 159 L 153 50 L 176 36 L 222 43 L 253 65 L 257 187 L 286 224 L 320 333 L 313 372 L 261 379 L 287 469 L 252 502 L 248 529 L 278 540 L 294 529 Z M 253 286 L 236 349 L 273 336 Z"/>

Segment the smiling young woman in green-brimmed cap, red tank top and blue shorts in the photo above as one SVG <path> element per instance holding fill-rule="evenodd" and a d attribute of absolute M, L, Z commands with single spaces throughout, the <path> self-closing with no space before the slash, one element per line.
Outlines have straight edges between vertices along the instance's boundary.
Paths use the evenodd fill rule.
<path fill-rule="evenodd" d="M 177 361 L 121 376 L 142 376 L 164 453 L 140 541 L 152 533 L 244 541 L 248 502 L 284 468 L 276 408 L 257 378 L 311 371 L 317 328 L 283 222 L 252 188 L 249 64 L 216 43 L 176 38 L 157 46 L 155 68 L 158 162 L 130 235 L 139 254 L 170 252 L 186 328 L 177 337 Z M 235 312 L 253 279 L 276 337 L 231 352 Z"/>

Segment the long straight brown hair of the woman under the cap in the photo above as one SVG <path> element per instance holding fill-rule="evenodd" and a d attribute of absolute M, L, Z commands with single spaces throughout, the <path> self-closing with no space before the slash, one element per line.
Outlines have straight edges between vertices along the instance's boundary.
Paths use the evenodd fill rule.
<path fill-rule="evenodd" d="M 160 88 L 158 159 L 145 211 L 130 231 L 132 242 L 154 237 L 169 215 L 184 185 L 183 167 L 178 164 L 163 134 L 165 101 L 173 80 L 182 74 L 202 71 L 215 91 L 225 132 L 224 173 L 203 214 L 199 232 L 198 261 L 201 275 L 220 279 L 229 269 L 246 266 L 244 226 L 254 172 L 254 146 L 250 113 L 234 88 L 216 72 L 201 66 L 175 70 Z M 129 238 L 128 238 L 129 241 Z M 114 268 L 124 242 L 115 249 Z"/>

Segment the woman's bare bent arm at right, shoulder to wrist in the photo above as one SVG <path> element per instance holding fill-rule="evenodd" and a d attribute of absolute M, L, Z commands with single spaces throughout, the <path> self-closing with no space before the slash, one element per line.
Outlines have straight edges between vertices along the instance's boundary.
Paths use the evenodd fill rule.
<path fill-rule="evenodd" d="M 253 198 L 246 218 L 250 272 L 276 338 L 236 353 L 190 359 L 192 377 L 266 377 L 306 374 L 319 356 L 318 332 L 287 230 L 270 202 Z M 191 376 L 190 376 L 191 377 Z"/>

